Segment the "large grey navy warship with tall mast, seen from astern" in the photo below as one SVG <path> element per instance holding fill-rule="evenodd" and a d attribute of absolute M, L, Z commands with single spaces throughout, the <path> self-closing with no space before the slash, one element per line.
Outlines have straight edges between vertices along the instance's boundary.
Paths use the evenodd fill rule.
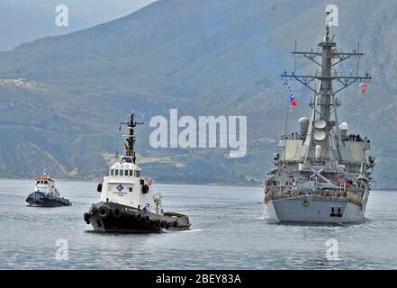
<path fill-rule="evenodd" d="M 365 76 L 345 75 L 333 68 L 347 58 L 363 55 L 359 49 L 343 52 L 329 36 L 317 49 L 293 51 L 320 67 L 315 74 L 284 72 L 283 80 L 294 79 L 313 92 L 311 118 L 299 120 L 299 132 L 284 136 L 275 153 L 274 167 L 264 181 L 265 202 L 270 219 L 292 222 L 348 223 L 364 220 L 370 193 L 374 157 L 367 157 L 370 140 L 348 134 L 346 122 L 339 124 L 338 92 L 354 83 L 367 86 Z M 358 63 L 358 62 L 357 62 Z M 338 85 L 334 85 L 338 84 Z M 315 84 L 315 85 L 314 85 Z M 314 87 L 313 87 L 314 86 Z"/>

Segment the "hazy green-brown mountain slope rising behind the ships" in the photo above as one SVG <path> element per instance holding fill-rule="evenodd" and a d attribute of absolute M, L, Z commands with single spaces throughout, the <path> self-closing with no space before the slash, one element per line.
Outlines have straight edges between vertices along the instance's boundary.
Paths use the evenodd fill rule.
<path fill-rule="evenodd" d="M 41 170 L 35 162 L 44 157 L 59 175 L 100 175 L 105 166 L 99 153 L 121 149 L 116 128 L 125 114 L 135 109 L 149 121 L 178 108 L 180 115 L 248 115 L 248 156 L 226 159 L 224 150 L 211 149 L 153 150 L 151 130 L 145 126 L 139 130 L 141 154 L 177 155 L 185 166 L 147 164 L 148 173 L 159 181 L 261 179 L 271 164 L 288 105 L 279 75 L 293 68 L 289 52 L 295 39 L 299 49 L 316 47 L 321 40 L 327 4 L 164 0 L 110 23 L 0 53 L 0 78 L 34 83 L 0 85 L 0 135 L 7 135 L 0 142 L 1 173 L 34 175 Z M 372 139 L 379 159 L 377 186 L 395 187 L 397 147 L 391 130 L 397 128 L 392 79 L 397 67 L 397 3 L 335 4 L 340 27 L 332 31 L 339 48 L 354 49 L 359 41 L 365 52 L 361 70 L 374 76 L 365 96 L 357 86 L 340 95 L 344 106 L 339 118 Z M 355 61 L 347 64 L 356 67 Z M 299 59 L 299 71 L 316 68 Z M 311 94 L 298 84 L 293 90 L 300 108 L 289 119 L 290 129 L 296 130 L 293 121 L 309 113 L 305 104 Z M 14 167 L 13 158 L 22 148 L 20 136 L 48 153 L 24 146 L 32 151 L 26 156 L 29 163 Z"/>

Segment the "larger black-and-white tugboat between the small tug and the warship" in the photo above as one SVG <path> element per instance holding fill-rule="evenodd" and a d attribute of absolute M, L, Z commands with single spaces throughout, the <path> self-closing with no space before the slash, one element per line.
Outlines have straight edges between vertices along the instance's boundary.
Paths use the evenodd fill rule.
<path fill-rule="evenodd" d="M 155 193 L 153 182 L 142 177 L 136 163 L 134 128 L 143 124 L 131 120 L 125 123 L 130 133 L 126 135 L 125 156 L 108 159 L 109 175 L 103 177 L 97 191 L 101 202 L 93 204 L 84 214 L 84 220 L 95 231 L 148 233 L 161 229 L 185 230 L 190 228 L 185 215 L 164 212 L 162 196 Z"/>

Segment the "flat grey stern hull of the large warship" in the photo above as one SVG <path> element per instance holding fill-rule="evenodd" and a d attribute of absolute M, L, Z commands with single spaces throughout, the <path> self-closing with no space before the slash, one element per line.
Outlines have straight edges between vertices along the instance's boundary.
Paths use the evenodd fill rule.
<path fill-rule="evenodd" d="M 270 220 L 335 224 L 362 222 L 365 212 L 346 198 L 326 200 L 314 196 L 270 200 L 266 202 L 266 209 Z"/>

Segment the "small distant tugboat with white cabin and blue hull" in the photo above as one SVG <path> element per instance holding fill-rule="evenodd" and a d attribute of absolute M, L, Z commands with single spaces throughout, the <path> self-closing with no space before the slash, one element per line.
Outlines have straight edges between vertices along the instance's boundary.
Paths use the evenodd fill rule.
<path fill-rule="evenodd" d="M 34 190 L 26 198 L 29 206 L 35 207 L 60 207 L 71 206 L 72 203 L 60 197 L 55 181 L 50 178 L 50 169 L 44 168 L 43 175 L 35 179 Z"/>

